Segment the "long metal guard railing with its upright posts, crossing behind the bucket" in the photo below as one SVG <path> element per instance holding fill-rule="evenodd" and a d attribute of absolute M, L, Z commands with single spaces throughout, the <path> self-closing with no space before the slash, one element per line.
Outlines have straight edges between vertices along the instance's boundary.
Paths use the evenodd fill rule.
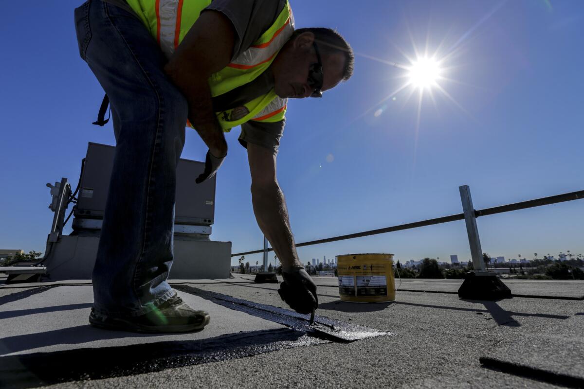
<path fill-rule="evenodd" d="M 496 213 L 503 213 L 503 212 L 512 212 L 518 211 L 519 209 L 526 209 L 526 208 L 533 208 L 536 206 L 542 205 L 550 205 L 556 204 L 558 202 L 565 202 L 565 201 L 572 201 L 584 198 L 584 190 L 564 193 L 560 195 L 550 196 L 550 197 L 543 197 L 528 201 L 516 202 L 514 204 L 507 204 L 507 205 L 499 205 L 494 206 L 492 208 L 485 208 L 479 209 L 478 211 L 472 208 L 472 200 L 470 197 L 470 188 L 467 185 L 463 185 L 459 187 L 460 195 L 461 195 L 461 202 L 463 203 L 463 213 L 457 213 L 456 215 L 450 216 L 442 216 L 442 218 L 436 219 L 427 219 L 422 220 L 420 222 L 413 222 L 413 223 L 406 223 L 397 226 L 385 227 L 376 230 L 369 230 L 363 232 L 357 232 L 353 234 L 346 234 L 340 236 L 334 236 L 325 239 L 318 239 L 318 240 L 311 240 L 303 243 L 297 243 L 296 247 L 304 247 L 304 246 L 312 246 L 314 244 L 321 244 L 321 243 L 329 243 L 335 242 L 339 240 L 346 240 L 346 239 L 354 239 L 360 238 L 363 236 L 371 236 L 377 234 L 384 234 L 388 232 L 394 231 L 401 231 L 401 230 L 408 230 L 412 228 L 424 227 L 424 226 L 432 226 L 436 224 L 442 223 L 449 223 L 454 222 L 456 220 L 465 220 L 467 223 L 467 233 L 468 233 L 468 241 L 471 247 L 471 256 L 472 256 L 472 264 L 474 268 L 477 269 L 478 272 L 484 272 L 484 262 L 482 261 L 482 251 L 480 246 L 480 241 L 478 237 L 478 229 L 476 218 L 479 216 L 488 216 L 488 215 L 495 215 Z M 264 253 L 264 262 L 266 262 L 267 258 L 267 251 L 273 251 L 272 247 L 267 247 L 266 240 L 264 237 L 264 248 L 260 250 L 253 250 L 253 251 L 245 251 L 244 253 L 236 253 L 231 254 L 231 257 L 238 257 L 239 255 L 248 255 L 248 254 L 259 254 Z M 264 268 L 267 267 L 267 264 L 264 263 Z M 481 275 L 481 274 L 477 274 Z"/>

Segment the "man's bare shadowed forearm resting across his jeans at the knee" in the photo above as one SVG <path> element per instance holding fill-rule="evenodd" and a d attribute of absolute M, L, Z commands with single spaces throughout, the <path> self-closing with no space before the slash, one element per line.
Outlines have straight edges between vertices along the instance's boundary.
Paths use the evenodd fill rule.
<path fill-rule="evenodd" d="M 227 142 L 221 125 L 213 112 L 211 89 L 207 79 L 184 73 L 183 69 L 166 66 L 166 73 L 185 96 L 189 104 L 189 121 L 215 157 L 227 153 Z"/>

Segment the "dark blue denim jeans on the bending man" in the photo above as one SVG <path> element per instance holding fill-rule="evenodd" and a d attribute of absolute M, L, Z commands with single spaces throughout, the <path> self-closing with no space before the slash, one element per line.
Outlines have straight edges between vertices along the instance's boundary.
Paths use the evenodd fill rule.
<path fill-rule="evenodd" d="M 116 135 L 92 275 L 93 308 L 139 316 L 175 294 L 166 278 L 188 106 L 164 73 L 164 54 L 137 17 L 89 0 L 75 9 L 75 29 L 81 58 L 109 96 Z"/>

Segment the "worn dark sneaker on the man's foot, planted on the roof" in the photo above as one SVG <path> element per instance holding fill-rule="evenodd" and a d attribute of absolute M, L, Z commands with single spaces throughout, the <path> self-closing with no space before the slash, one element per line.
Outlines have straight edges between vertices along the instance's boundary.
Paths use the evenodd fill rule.
<path fill-rule="evenodd" d="M 156 334 L 203 330 L 203 327 L 209 324 L 210 318 L 207 312 L 193 310 L 175 295 L 142 316 L 107 316 L 97 313 L 92 308 L 91 314 L 89 314 L 89 324 L 106 330 Z"/>

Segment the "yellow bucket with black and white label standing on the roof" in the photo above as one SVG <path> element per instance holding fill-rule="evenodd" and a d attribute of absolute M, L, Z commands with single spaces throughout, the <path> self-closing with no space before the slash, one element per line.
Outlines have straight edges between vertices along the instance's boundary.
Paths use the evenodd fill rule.
<path fill-rule="evenodd" d="M 337 255 L 342 301 L 385 303 L 395 301 L 394 254 Z"/>

